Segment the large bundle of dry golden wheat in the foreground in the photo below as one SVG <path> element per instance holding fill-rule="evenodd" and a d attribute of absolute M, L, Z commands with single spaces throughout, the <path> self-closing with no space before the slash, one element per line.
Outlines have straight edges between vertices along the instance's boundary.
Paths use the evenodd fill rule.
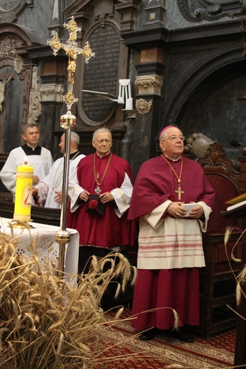
<path fill-rule="evenodd" d="M 38 242 L 37 237 L 27 260 L 16 255 L 13 229 L 9 236 L 0 233 L 0 368 L 106 368 L 112 361 L 117 368 L 123 356 L 112 355 L 115 344 L 107 340 L 107 330 L 117 324 L 120 312 L 109 322 L 100 300 L 115 277 L 120 278 L 117 292 L 130 280 L 134 283 L 135 268 L 119 253 L 117 263 L 94 258 L 90 272 L 72 287 L 50 262 L 38 260 Z M 106 262 L 110 268 L 102 272 Z M 134 354 L 124 356 L 130 358 L 137 360 Z"/>

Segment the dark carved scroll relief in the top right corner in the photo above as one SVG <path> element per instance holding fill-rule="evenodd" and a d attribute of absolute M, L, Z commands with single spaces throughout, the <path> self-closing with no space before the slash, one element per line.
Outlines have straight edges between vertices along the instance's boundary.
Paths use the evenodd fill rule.
<path fill-rule="evenodd" d="M 178 0 L 177 3 L 187 21 L 214 21 L 246 13 L 245 0 Z"/>

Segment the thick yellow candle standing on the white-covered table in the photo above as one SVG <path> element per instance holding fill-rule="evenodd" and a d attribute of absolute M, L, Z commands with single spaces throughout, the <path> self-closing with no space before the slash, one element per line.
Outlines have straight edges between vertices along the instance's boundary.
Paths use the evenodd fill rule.
<path fill-rule="evenodd" d="M 16 173 L 16 199 L 14 202 L 14 219 L 30 221 L 31 197 L 33 189 L 33 167 L 25 161 L 18 165 Z"/>

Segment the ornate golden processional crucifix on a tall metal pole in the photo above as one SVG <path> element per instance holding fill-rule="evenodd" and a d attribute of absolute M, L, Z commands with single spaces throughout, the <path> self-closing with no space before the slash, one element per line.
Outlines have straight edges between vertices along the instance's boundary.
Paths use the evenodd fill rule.
<path fill-rule="evenodd" d="M 65 244 L 70 242 L 70 233 L 66 229 L 67 209 L 68 209 L 68 178 L 69 178 L 69 157 L 70 157 L 70 136 L 71 129 L 76 125 L 76 116 L 71 113 L 71 107 L 78 99 L 73 95 L 74 76 L 76 71 L 77 55 L 84 55 L 85 63 L 90 60 L 90 57 L 94 57 L 95 53 L 92 53 L 89 43 L 85 44 L 84 48 L 77 47 L 77 32 L 80 32 L 80 27 L 77 27 L 74 17 L 72 16 L 68 23 L 64 23 L 63 26 L 68 29 L 69 38 L 66 43 L 61 43 L 58 37 L 58 33 L 50 40 L 47 40 L 47 44 L 53 49 L 53 55 L 57 55 L 60 49 L 65 50 L 68 55 L 68 92 L 61 97 L 67 106 L 67 112 L 60 117 L 60 126 L 65 129 L 65 152 L 64 152 L 64 165 L 63 165 L 63 198 L 60 209 L 60 230 L 55 234 L 55 241 L 59 243 L 59 271 L 60 277 L 64 272 L 65 261 Z"/>

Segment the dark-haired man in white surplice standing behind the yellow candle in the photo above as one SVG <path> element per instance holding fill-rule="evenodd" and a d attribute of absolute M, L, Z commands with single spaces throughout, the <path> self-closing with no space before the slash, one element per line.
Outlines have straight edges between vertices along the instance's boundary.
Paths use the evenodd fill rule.
<path fill-rule="evenodd" d="M 53 165 L 50 150 L 38 145 L 40 132 L 35 123 L 28 123 L 23 127 L 22 137 L 26 143 L 11 150 L 0 172 L 1 181 L 14 196 L 16 194 L 16 172 L 18 165 L 23 165 L 27 161 L 28 165 L 33 167 L 34 185 L 38 184 L 38 182 L 48 175 Z"/>

